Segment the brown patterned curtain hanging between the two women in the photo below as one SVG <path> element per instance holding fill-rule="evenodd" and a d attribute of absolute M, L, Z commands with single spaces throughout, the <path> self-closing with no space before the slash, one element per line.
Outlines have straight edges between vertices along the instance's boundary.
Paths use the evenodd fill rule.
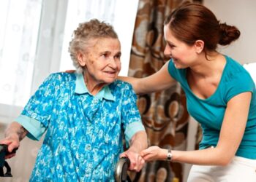
<path fill-rule="evenodd" d="M 165 63 L 163 23 L 166 15 L 182 0 L 140 0 L 132 40 L 129 76 L 154 74 Z M 164 78 L 163 78 L 164 79 Z M 179 84 L 169 90 L 138 96 L 138 108 L 148 134 L 149 146 L 187 149 L 189 114 L 186 98 Z M 182 181 L 183 165 L 175 162 L 148 162 L 132 181 Z"/>

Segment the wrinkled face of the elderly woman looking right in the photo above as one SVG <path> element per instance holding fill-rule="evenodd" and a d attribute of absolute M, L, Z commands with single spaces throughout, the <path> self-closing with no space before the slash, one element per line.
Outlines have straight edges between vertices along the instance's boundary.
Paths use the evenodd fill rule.
<path fill-rule="evenodd" d="M 109 84 L 121 70 L 121 45 L 118 39 L 100 38 L 91 41 L 80 61 L 84 66 L 87 82 Z"/>

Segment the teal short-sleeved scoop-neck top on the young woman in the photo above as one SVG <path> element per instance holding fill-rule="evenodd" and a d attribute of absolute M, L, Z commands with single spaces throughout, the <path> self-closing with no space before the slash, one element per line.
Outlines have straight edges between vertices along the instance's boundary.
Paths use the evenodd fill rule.
<path fill-rule="evenodd" d="M 193 94 L 187 82 L 187 68 L 175 68 L 173 61 L 168 64 L 169 74 L 181 84 L 187 96 L 187 110 L 201 124 L 203 139 L 200 149 L 217 146 L 227 102 L 241 92 L 252 92 L 249 116 L 241 144 L 236 156 L 256 159 L 256 91 L 249 73 L 232 58 L 225 55 L 226 65 L 217 90 L 209 98 L 200 99 Z"/>

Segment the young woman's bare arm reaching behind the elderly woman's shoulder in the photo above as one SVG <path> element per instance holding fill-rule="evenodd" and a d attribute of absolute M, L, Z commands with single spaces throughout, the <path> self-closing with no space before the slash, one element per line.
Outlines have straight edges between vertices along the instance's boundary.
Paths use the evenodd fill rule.
<path fill-rule="evenodd" d="M 137 94 L 146 94 L 165 90 L 176 82 L 168 72 L 168 63 L 169 62 L 165 63 L 159 71 L 151 76 L 144 78 L 118 76 L 118 79 L 132 84 L 132 87 Z"/>

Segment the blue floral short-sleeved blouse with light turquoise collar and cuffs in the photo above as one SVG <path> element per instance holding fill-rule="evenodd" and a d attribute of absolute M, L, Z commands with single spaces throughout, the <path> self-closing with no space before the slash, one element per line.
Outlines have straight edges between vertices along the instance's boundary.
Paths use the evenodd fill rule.
<path fill-rule="evenodd" d="M 82 74 L 51 74 L 30 98 L 19 122 L 45 139 L 30 181 L 114 181 L 122 138 L 145 130 L 132 86 L 117 80 L 91 95 Z"/>

